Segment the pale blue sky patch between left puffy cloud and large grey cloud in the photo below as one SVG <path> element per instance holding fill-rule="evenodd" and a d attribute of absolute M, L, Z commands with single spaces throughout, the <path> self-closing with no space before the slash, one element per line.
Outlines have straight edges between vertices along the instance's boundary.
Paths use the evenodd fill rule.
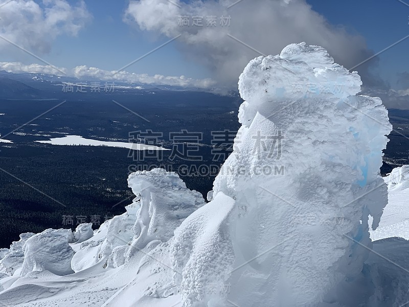
<path fill-rule="evenodd" d="M 87 65 L 117 70 L 169 40 L 124 23 L 122 19 L 127 3 L 126 0 L 87 1 L 87 8 L 94 16 L 92 23 L 78 37 L 59 37 L 55 44 L 56 52 L 48 57 L 50 62 L 62 67 Z M 209 76 L 202 67 L 195 65 L 192 69 L 192 64 L 187 63 L 175 45 L 170 43 L 133 64 L 127 71 L 193 78 Z"/>

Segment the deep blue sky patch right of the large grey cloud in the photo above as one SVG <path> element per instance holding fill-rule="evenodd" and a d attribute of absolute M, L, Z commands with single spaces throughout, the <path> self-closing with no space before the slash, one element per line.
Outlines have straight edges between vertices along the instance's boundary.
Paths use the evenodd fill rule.
<path fill-rule="evenodd" d="M 398 0 L 308 0 L 333 25 L 344 25 L 365 37 L 375 53 L 409 35 L 409 5 Z M 409 1 L 406 2 L 409 4 Z M 409 38 L 379 55 L 379 72 L 392 82 L 408 71 Z"/>

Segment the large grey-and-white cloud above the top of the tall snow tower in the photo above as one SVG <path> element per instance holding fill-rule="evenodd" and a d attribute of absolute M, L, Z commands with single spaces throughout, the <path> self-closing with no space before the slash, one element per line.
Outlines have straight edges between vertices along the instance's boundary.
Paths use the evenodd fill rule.
<path fill-rule="evenodd" d="M 169 38 L 182 34 L 175 43 L 186 56 L 206 65 L 219 83 L 229 86 L 237 84 L 245 65 L 259 54 L 228 34 L 264 54 L 278 54 L 292 42 L 320 45 L 347 68 L 373 54 L 362 36 L 331 26 L 305 0 L 243 0 L 228 9 L 235 2 L 130 0 L 124 20 Z M 220 26 L 222 15 L 231 16 L 230 27 Z M 193 16 L 203 17 L 203 26 L 181 27 L 179 16 L 190 17 L 190 24 Z M 207 16 L 217 16 L 215 27 L 207 26 Z M 367 69 L 368 65 L 357 68 L 364 82 Z"/>

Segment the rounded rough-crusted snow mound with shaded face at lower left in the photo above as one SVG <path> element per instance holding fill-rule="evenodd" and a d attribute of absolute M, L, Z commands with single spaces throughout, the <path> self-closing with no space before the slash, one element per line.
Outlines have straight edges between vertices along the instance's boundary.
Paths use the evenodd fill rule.
<path fill-rule="evenodd" d="M 70 229 L 47 229 L 33 235 L 22 248 L 24 262 L 20 275 L 24 277 L 30 272 L 44 270 L 60 276 L 74 273 L 71 269 L 74 250 L 70 242 L 73 242 Z"/>

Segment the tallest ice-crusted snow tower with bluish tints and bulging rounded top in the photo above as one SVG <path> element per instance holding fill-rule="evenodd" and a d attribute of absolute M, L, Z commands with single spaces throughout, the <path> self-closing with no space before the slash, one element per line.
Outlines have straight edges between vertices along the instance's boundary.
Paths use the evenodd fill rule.
<path fill-rule="evenodd" d="M 355 96 L 356 72 L 305 43 L 252 60 L 240 76 L 242 126 L 214 183 L 236 199 L 237 305 L 310 306 L 334 300 L 337 284 L 362 270 L 387 204 L 379 177 L 392 129 L 379 98 Z M 278 174 L 232 171 L 280 165 Z M 372 191 L 372 192 L 371 192 Z M 360 223 L 361 221 L 361 223 Z M 270 252 L 265 253 L 266 250 Z"/>

